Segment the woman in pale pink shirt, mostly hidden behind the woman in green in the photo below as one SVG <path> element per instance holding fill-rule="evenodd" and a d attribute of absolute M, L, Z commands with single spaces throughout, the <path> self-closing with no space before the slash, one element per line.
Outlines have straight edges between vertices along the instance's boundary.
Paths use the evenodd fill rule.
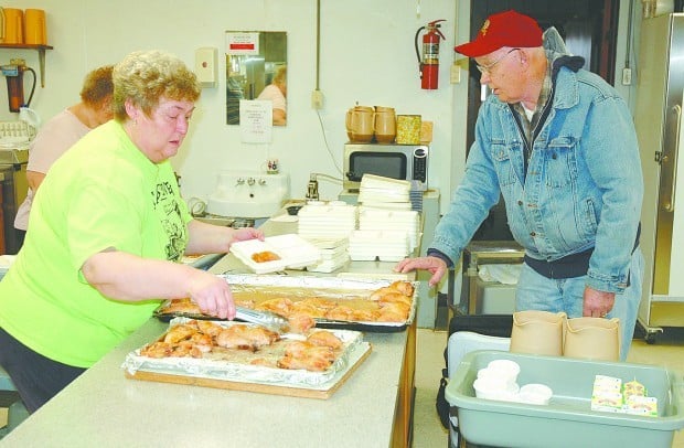
<path fill-rule="evenodd" d="M 81 89 L 81 102 L 55 115 L 41 128 L 31 142 L 26 166 L 29 192 L 14 218 L 20 247 L 29 227 L 29 213 L 33 196 L 50 167 L 90 129 L 109 121 L 114 116 L 111 109 L 113 68 L 114 65 L 105 65 L 88 73 Z"/>

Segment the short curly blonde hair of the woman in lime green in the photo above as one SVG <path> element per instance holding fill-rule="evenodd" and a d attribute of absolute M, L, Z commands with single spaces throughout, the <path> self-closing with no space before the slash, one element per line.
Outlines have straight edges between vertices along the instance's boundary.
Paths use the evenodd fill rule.
<path fill-rule="evenodd" d="M 195 74 L 179 57 L 158 50 L 130 53 L 114 67 L 114 118 L 129 117 L 126 102 L 151 115 L 161 98 L 196 102 L 202 88 Z"/>

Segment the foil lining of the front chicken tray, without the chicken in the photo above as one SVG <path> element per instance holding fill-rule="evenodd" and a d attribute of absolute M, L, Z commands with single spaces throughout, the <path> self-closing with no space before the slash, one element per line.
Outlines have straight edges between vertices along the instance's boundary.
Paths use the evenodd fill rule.
<path fill-rule="evenodd" d="M 170 326 L 185 323 L 189 318 L 174 318 Z M 231 327 L 235 322 L 215 321 L 222 327 Z M 334 384 L 335 378 L 344 374 L 352 365 L 357 363 L 371 346 L 363 340 L 363 334 L 357 331 L 331 330 L 340 338 L 344 348 L 342 354 L 333 364 L 323 372 L 310 372 L 306 370 L 275 369 L 264 365 L 250 365 L 231 362 L 227 360 L 206 360 L 195 358 L 162 358 L 154 359 L 140 355 L 140 349 L 128 353 L 121 369 L 129 374 L 136 372 L 150 372 L 168 375 L 181 375 L 203 377 L 210 380 L 223 380 L 238 383 L 259 383 L 277 386 L 325 388 Z M 153 342 L 153 341 L 150 341 Z"/>

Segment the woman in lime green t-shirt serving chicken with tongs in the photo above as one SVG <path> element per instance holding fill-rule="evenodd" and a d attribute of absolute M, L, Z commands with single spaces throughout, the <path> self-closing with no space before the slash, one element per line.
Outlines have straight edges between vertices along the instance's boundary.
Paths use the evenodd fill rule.
<path fill-rule="evenodd" d="M 34 412 L 150 319 L 190 297 L 233 319 L 226 281 L 179 263 L 263 238 L 194 221 L 170 163 L 200 97 L 175 56 L 150 51 L 114 68 L 114 120 L 51 168 L 29 232 L 0 281 L 0 365 Z"/>

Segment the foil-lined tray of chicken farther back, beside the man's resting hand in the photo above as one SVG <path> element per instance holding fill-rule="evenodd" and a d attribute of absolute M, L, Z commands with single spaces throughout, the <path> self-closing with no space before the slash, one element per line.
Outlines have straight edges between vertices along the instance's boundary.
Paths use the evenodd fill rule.
<path fill-rule="evenodd" d="M 287 318 L 292 327 L 313 319 L 317 328 L 371 332 L 402 331 L 416 313 L 417 285 L 404 280 L 340 277 L 222 275 L 235 303 Z M 202 314 L 190 299 L 168 300 L 156 311 L 161 320 Z"/>

